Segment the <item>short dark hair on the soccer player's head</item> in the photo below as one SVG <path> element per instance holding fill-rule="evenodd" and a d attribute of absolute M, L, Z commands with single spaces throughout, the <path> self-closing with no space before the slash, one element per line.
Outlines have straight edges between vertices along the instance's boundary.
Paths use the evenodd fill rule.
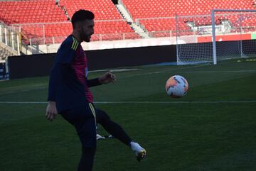
<path fill-rule="evenodd" d="M 73 28 L 75 28 L 75 23 L 78 23 L 79 21 L 93 20 L 94 18 L 95 16 L 92 11 L 80 9 L 79 11 L 76 11 L 72 16 L 71 23 Z"/>

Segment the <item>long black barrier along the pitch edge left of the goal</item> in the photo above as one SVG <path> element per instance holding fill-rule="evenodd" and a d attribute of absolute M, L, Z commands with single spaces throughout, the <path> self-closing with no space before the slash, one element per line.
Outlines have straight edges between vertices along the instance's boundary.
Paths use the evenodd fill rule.
<path fill-rule="evenodd" d="M 87 50 L 88 70 L 176 62 L 176 45 L 141 48 Z M 50 74 L 56 53 L 8 58 L 9 78 L 39 77 Z"/>

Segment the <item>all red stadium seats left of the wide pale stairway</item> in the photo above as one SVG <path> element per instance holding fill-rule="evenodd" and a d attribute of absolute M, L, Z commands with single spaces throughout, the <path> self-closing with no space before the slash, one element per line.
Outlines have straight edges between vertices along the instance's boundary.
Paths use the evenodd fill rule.
<path fill-rule="evenodd" d="M 63 11 L 65 9 L 65 11 Z M 23 43 L 60 43 L 72 31 L 67 16 L 73 16 L 78 9 L 95 13 L 95 35 L 92 40 L 122 40 L 140 38 L 122 18 L 112 1 L 31 0 L 0 1 L 0 20 L 21 27 Z M 30 24 L 27 24 L 30 23 Z"/>

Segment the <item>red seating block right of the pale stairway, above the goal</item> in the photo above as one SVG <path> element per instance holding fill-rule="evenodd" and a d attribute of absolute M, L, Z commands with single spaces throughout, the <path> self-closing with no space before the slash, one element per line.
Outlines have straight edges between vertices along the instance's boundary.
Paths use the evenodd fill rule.
<path fill-rule="evenodd" d="M 154 37 L 164 37 L 175 35 L 170 31 L 176 31 L 175 16 L 195 16 L 209 15 L 211 9 L 255 9 L 255 0 L 122 0 L 122 4 L 135 20 L 140 19 L 139 23 Z M 150 19 L 141 19 L 150 18 Z M 215 18 L 217 24 L 221 20 L 238 21 L 238 16 L 218 16 Z M 187 21 L 178 21 L 178 30 L 189 30 Z M 204 18 L 193 18 L 196 26 L 207 26 L 211 24 L 210 16 Z M 246 18 L 242 21 L 243 26 L 250 26 L 256 23 L 255 18 Z M 185 33 L 187 34 L 187 33 Z"/>

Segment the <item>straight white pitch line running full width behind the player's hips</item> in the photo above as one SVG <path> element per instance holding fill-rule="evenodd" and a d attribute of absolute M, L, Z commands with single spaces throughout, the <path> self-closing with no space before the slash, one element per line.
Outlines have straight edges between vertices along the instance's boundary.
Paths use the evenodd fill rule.
<path fill-rule="evenodd" d="M 248 104 L 250 101 L 95 101 L 95 104 Z M 46 101 L 0 101 L 0 104 L 48 104 Z"/>

